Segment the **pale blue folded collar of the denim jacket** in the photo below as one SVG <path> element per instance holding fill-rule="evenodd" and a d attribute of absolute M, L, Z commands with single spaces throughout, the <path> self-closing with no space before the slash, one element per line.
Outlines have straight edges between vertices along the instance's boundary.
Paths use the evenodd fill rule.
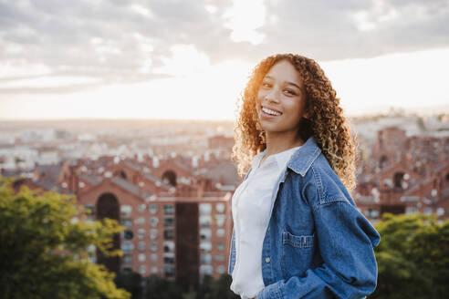
<path fill-rule="evenodd" d="M 293 153 L 290 160 L 288 160 L 287 168 L 304 177 L 320 153 L 321 149 L 319 149 L 314 137 L 311 136 L 302 147 Z"/>

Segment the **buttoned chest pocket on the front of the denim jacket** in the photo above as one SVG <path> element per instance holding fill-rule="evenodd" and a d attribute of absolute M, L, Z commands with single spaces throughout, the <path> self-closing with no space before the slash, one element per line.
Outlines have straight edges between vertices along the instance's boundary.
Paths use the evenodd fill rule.
<path fill-rule="evenodd" d="M 282 232 L 281 268 L 284 278 L 305 273 L 312 265 L 315 249 L 315 234 Z"/>

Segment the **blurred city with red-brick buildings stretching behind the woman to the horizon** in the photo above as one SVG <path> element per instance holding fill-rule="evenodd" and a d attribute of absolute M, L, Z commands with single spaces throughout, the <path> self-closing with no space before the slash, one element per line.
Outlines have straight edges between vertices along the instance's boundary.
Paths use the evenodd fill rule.
<path fill-rule="evenodd" d="M 359 146 L 351 196 L 373 224 L 385 212 L 449 218 L 449 115 L 351 118 Z M 231 160 L 232 121 L 51 120 L 0 123 L 0 168 L 16 190 L 73 194 L 85 215 L 117 220 L 121 257 L 92 253 L 111 272 L 180 284 L 226 273 L 231 198 L 242 178 Z"/>

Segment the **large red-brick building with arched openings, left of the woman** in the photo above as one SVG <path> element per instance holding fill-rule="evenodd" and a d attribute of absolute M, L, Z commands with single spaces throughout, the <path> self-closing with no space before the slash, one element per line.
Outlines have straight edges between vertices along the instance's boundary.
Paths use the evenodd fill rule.
<path fill-rule="evenodd" d="M 39 166 L 33 180 L 16 180 L 15 188 L 75 194 L 88 222 L 110 218 L 125 226 L 113 240 L 123 256 L 98 252 L 92 262 L 116 273 L 155 273 L 196 284 L 205 274 L 216 279 L 226 272 L 231 198 L 240 180 L 227 157 L 213 157 L 196 158 L 196 167 L 179 155 L 76 160 Z"/>

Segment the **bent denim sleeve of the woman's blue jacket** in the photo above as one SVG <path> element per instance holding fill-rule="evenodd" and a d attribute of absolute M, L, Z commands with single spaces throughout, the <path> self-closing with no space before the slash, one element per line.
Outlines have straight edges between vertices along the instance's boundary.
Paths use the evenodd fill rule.
<path fill-rule="evenodd" d="M 315 237 L 323 263 L 303 276 L 267 285 L 257 294 L 266 298 L 363 298 L 377 281 L 373 246 L 379 233 L 347 199 L 319 203 L 313 210 Z"/>

